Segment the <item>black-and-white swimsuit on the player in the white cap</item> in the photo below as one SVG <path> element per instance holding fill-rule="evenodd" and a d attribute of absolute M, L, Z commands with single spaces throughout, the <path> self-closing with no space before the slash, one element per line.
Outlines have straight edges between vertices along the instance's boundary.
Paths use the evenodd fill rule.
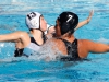
<path fill-rule="evenodd" d="M 44 40 L 44 43 L 47 40 L 47 37 L 44 34 L 43 34 L 43 40 Z M 14 51 L 14 57 L 21 57 L 21 56 L 28 57 L 28 56 L 35 54 L 36 51 L 38 51 L 39 48 L 40 48 L 40 45 L 38 45 L 35 42 L 34 37 L 31 36 L 31 44 L 27 47 L 22 48 L 22 49 L 16 48 L 16 50 Z"/>

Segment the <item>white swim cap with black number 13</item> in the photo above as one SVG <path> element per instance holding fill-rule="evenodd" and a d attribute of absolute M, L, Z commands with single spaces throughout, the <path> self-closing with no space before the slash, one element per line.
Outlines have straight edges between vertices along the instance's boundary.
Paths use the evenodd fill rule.
<path fill-rule="evenodd" d="M 26 24 L 28 28 L 39 28 L 40 27 L 40 16 L 38 12 L 31 12 L 26 15 Z"/>

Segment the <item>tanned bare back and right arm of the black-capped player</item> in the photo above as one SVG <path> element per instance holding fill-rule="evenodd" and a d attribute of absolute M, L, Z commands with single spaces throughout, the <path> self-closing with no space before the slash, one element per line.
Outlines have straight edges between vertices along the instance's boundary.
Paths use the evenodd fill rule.
<path fill-rule="evenodd" d="M 55 43 L 53 49 L 58 48 L 62 55 L 68 55 L 65 44 L 61 39 L 53 38 L 51 42 Z M 88 52 L 105 52 L 109 48 L 108 45 L 94 43 L 88 39 L 77 39 L 77 51 L 81 58 L 86 58 Z"/>

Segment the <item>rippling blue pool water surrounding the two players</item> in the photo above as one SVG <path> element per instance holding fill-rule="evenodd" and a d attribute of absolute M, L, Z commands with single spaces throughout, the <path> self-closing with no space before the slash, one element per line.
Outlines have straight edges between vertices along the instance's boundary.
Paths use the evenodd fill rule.
<path fill-rule="evenodd" d="M 80 21 L 94 9 L 89 24 L 75 32 L 76 38 L 109 44 L 108 0 L 0 0 L 0 34 L 26 31 L 25 15 L 44 14 L 55 24 L 62 11 L 72 11 Z M 86 61 L 44 61 L 37 58 L 13 58 L 14 44 L 0 43 L 0 82 L 109 82 L 109 52 L 89 54 Z"/>

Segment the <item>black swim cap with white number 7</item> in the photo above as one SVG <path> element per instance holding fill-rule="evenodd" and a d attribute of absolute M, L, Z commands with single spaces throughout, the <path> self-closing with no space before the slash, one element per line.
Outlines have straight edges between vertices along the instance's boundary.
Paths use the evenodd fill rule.
<path fill-rule="evenodd" d="M 65 34 L 66 32 L 74 32 L 74 28 L 78 24 L 78 16 L 73 12 L 62 12 L 58 21 L 60 23 L 61 34 Z"/>

